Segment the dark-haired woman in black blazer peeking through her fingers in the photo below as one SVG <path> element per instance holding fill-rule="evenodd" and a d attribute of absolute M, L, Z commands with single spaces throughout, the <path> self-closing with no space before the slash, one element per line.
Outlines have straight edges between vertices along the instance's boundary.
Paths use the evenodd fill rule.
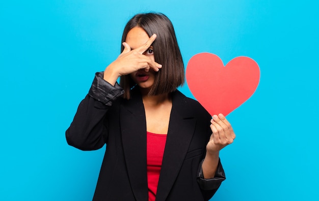
<path fill-rule="evenodd" d="M 184 66 L 165 15 L 134 16 L 122 45 L 66 131 L 81 150 L 107 144 L 93 200 L 210 199 L 225 180 L 219 151 L 235 138 L 231 125 L 176 89 Z"/>

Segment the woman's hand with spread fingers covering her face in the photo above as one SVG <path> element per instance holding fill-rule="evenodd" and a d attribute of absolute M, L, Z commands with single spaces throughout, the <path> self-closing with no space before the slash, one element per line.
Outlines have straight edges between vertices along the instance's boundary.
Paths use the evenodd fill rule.
<path fill-rule="evenodd" d="M 105 69 L 103 79 L 115 85 L 119 76 L 128 75 L 140 69 L 145 69 L 148 72 L 152 68 L 157 72 L 162 68 L 162 65 L 143 54 L 149 49 L 155 39 L 156 35 L 153 34 L 144 45 L 134 50 L 131 50 L 129 45 L 124 42 L 123 52 Z"/>

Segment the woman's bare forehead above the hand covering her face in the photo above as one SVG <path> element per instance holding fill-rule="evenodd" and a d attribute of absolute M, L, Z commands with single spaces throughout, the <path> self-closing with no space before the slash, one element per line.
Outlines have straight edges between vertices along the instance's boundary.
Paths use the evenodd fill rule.
<path fill-rule="evenodd" d="M 149 37 L 143 28 L 134 27 L 128 31 L 125 42 L 131 49 L 136 49 L 144 45 L 148 39 Z"/>

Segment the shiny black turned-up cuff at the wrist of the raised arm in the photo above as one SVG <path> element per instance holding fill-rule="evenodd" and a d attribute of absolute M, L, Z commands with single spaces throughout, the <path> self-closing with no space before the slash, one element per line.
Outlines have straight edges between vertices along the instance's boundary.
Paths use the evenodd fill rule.
<path fill-rule="evenodd" d="M 115 86 L 103 79 L 103 72 L 95 74 L 92 86 L 89 90 L 89 95 L 97 101 L 107 106 L 112 106 L 112 101 L 121 96 L 124 90 L 118 83 Z"/>

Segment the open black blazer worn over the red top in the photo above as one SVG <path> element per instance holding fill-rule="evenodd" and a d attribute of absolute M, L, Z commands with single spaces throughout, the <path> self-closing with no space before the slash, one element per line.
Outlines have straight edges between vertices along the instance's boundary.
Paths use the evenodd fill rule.
<path fill-rule="evenodd" d="M 93 200 L 148 200 L 142 97 L 138 89 L 129 100 L 122 93 L 97 73 L 66 131 L 68 144 L 81 150 L 107 144 Z M 211 116 L 179 91 L 172 93 L 172 103 L 156 200 L 208 200 L 225 179 L 220 163 L 215 178 L 201 175 Z"/>

